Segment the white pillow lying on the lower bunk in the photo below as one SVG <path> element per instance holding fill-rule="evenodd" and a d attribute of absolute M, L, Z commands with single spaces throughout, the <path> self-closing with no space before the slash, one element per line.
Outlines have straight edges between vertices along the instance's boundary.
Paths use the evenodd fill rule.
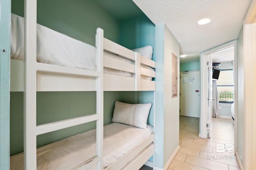
<path fill-rule="evenodd" d="M 151 103 L 128 104 L 116 101 L 112 122 L 146 129 L 151 105 Z"/>

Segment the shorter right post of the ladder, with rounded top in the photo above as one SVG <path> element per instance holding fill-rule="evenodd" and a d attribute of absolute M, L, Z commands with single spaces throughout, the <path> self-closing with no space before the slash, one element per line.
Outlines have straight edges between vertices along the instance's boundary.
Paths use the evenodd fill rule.
<path fill-rule="evenodd" d="M 97 104 L 96 113 L 100 115 L 100 119 L 97 120 L 96 127 L 96 154 L 99 156 L 99 162 L 97 163 L 97 170 L 103 169 L 103 94 L 104 94 L 104 77 L 103 77 L 103 45 L 104 36 L 103 30 L 98 28 L 96 34 L 96 67 L 100 72 L 100 76 L 97 78 Z"/>

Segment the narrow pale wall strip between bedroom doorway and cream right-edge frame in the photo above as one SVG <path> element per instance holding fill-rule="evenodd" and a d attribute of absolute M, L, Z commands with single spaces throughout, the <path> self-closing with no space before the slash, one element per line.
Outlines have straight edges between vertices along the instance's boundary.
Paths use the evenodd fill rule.
<path fill-rule="evenodd" d="M 240 30 L 240 33 L 237 38 L 237 83 L 238 83 L 238 94 L 237 94 L 237 152 L 239 156 L 243 156 L 244 152 L 244 62 L 243 62 L 243 45 L 244 45 L 244 39 L 243 39 L 243 26 Z M 243 164 L 243 160 L 241 160 Z"/>

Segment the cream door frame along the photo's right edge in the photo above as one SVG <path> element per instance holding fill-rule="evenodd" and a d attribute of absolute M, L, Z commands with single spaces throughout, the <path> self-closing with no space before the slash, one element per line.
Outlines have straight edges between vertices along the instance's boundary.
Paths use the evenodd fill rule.
<path fill-rule="evenodd" d="M 256 1 L 244 20 L 244 157 L 243 169 L 256 168 Z"/>

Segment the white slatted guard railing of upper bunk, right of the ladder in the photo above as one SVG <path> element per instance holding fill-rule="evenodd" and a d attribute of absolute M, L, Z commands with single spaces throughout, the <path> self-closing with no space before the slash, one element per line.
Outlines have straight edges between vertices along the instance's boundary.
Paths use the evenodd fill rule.
<path fill-rule="evenodd" d="M 98 28 L 99 29 L 99 28 Z M 141 64 L 156 68 L 156 63 L 146 57 L 127 49 L 113 41 L 104 38 L 104 50 L 134 61 L 134 64 L 126 63 L 104 55 L 104 67 L 126 71 L 135 74 L 135 78 L 104 74 L 105 91 L 155 91 L 155 81 L 144 80 L 141 75 L 156 78 L 156 73 Z"/>

